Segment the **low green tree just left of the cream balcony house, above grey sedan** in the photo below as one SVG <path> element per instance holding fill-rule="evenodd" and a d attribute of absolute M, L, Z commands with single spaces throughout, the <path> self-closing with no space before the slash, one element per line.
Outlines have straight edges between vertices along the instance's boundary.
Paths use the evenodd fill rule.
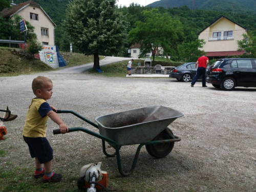
<path fill-rule="evenodd" d="M 197 39 L 192 42 L 183 42 L 178 46 L 179 60 L 195 62 L 205 53 L 203 50 L 200 50 L 200 48 L 203 48 L 204 44 L 205 41 L 203 39 Z"/>

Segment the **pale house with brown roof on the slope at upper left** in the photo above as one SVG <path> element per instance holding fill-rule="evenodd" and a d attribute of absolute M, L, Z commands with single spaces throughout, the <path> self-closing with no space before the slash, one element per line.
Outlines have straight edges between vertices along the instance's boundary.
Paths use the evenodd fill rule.
<path fill-rule="evenodd" d="M 3 18 L 9 19 L 12 19 L 14 14 L 20 15 L 35 27 L 34 33 L 42 45 L 55 45 L 54 29 L 56 25 L 39 4 L 28 1 L 16 5 L 12 1 L 11 8 L 6 8 L 1 12 Z"/>

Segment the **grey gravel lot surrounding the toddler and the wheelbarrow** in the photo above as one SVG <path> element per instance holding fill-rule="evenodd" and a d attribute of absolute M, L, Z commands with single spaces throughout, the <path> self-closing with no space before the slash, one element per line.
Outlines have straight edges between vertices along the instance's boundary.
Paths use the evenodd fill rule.
<path fill-rule="evenodd" d="M 142 147 L 134 173 L 126 178 L 120 177 L 116 159 L 104 156 L 99 139 L 82 132 L 53 135 L 58 126 L 49 120 L 47 138 L 54 150 L 54 170 L 76 177 L 81 166 L 102 161 L 101 169 L 109 174 L 110 191 L 256 191 L 256 89 L 225 92 L 210 84 L 202 88 L 201 82 L 190 88 L 189 83 L 170 78 L 105 78 L 87 73 L 1 77 L 0 108 L 9 105 L 18 115 L 14 121 L 5 122 L 8 134 L 0 147 L 8 153 L 1 167 L 34 167 L 22 130 L 34 97 L 31 83 L 38 75 L 53 81 L 50 104 L 91 121 L 99 115 L 148 105 L 164 105 L 184 114 L 168 126 L 182 139 L 174 150 L 165 158 L 155 159 Z M 71 114 L 60 117 L 68 127 L 83 126 L 98 132 Z M 131 167 L 136 148 L 121 148 L 124 169 Z"/>

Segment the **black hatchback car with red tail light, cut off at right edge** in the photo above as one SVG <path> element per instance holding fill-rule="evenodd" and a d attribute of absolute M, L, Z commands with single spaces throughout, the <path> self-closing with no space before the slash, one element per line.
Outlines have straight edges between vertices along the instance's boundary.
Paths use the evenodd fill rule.
<path fill-rule="evenodd" d="M 218 59 L 209 68 L 206 81 L 215 88 L 231 91 L 235 87 L 256 87 L 256 59 Z"/>

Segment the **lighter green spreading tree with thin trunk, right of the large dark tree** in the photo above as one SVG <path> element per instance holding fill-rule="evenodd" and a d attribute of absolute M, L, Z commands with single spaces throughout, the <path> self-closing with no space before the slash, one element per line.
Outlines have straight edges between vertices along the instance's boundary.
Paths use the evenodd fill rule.
<path fill-rule="evenodd" d="M 183 33 L 183 27 L 179 20 L 161 14 L 157 9 L 142 11 L 145 19 L 136 22 L 136 28 L 129 32 L 130 42 L 140 44 L 142 55 L 152 52 L 155 60 L 156 50 L 162 47 L 165 53 L 170 53 L 172 41 L 178 39 L 178 33 Z"/>

